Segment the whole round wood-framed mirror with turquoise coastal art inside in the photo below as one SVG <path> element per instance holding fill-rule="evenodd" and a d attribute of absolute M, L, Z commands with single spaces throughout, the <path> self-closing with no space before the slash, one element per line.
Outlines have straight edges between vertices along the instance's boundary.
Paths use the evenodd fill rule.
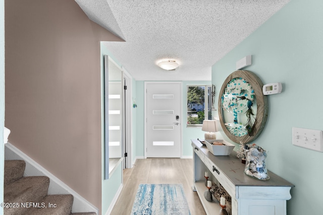
<path fill-rule="evenodd" d="M 251 71 L 230 74 L 219 94 L 219 118 L 226 135 L 247 144 L 261 133 L 267 119 L 268 100 L 262 82 Z"/>

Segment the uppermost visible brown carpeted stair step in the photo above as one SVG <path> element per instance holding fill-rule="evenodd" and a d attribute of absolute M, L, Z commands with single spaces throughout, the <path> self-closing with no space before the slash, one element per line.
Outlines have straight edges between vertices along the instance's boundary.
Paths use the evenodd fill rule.
<path fill-rule="evenodd" d="M 22 160 L 5 160 L 4 185 L 10 184 L 24 176 L 26 162 Z"/>

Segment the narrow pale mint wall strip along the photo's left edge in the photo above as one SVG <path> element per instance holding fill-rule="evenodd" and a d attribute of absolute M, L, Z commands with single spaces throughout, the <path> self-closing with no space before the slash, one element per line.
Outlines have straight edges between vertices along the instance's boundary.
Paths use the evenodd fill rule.
<path fill-rule="evenodd" d="M 5 121 L 5 1 L 0 0 L 0 139 L 4 139 Z M 4 145 L 1 141 L 0 158 L 5 157 Z M 4 201 L 4 159 L 0 159 L 0 202 Z M 0 208 L 3 214 L 3 208 Z"/>

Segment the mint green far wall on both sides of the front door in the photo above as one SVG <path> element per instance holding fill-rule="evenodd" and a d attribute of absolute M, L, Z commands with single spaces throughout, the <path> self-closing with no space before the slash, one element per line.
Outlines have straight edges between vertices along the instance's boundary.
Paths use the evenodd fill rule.
<path fill-rule="evenodd" d="M 191 157 L 193 155 L 191 147 L 191 139 L 194 138 L 204 138 L 204 132 L 201 128 L 188 128 L 186 127 L 187 118 L 187 85 L 206 85 L 211 84 L 210 81 L 184 81 L 182 82 L 182 92 L 183 92 L 183 117 L 182 117 L 182 135 L 183 135 L 183 149 L 182 156 Z M 144 156 L 144 81 L 136 82 L 136 98 L 137 98 L 137 119 L 136 119 L 136 129 L 137 129 L 137 156 Z"/>

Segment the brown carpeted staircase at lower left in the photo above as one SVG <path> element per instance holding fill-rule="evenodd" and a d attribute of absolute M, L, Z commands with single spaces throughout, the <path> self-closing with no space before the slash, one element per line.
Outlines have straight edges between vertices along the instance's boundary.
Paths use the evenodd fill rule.
<path fill-rule="evenodd" d="M 47 195 L 49 178 L 23 177 L 23 160 L 6 160 L 4 176 L 5 215 L 96 215 L 95 212 L 72 213 L 73 195 Z"/>

